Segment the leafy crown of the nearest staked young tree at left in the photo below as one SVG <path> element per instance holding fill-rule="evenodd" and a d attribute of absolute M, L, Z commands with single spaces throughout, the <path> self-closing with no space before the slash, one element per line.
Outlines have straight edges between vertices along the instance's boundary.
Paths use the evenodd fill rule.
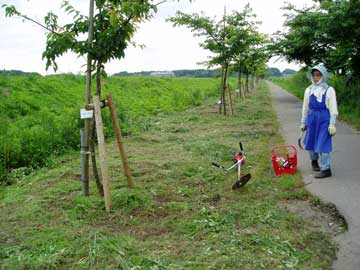
<path fill-rule="evenodd" d="M 96 79 L 95 94 L 101 96 L 101 77 L 106 75 L 105 64 L 112 59 L 121 59 L 125 56 L 125 49 L 129 45 L 135 45 L 132 39 L 139 23 L 150 20 L 157 11 L 157 6 L 166 0 L 158 3 L 154 3 L 153 0 L 90 0 L 90 10 L 94 1 L 94 16 L 91 12 L 91 16 L 82 15 L 69 1 L 64 1 L 62 8 L 73 16 L 73 21 L 65 25 L 59 24 L 58 16 L 52 12 L 45 16 L 44 23 L 40 23 L 19 12 L 13 5 L 2 7 L 5 8 L 6 16 L 22 17 L 48 30 L 46 48 L 42 55 L 46 60 L 46 69 L 53 67 L 56 71 L 57 58 L 68 51 L 88 56 L 89 73 Z M 92 38 L 84 40 L 83 36 L 87 33 Z M 89 84 L 91 85 L 90 82 Z M 90 93 L 86 96 L 86 103 L 89 103 Z M 85 125 L 86 141 L 95 129 L 93 124 L 93 132 L 89 132 L 87 126 L 89 125 Z M 91 147 L 94 149 L 93 145 Z"/>

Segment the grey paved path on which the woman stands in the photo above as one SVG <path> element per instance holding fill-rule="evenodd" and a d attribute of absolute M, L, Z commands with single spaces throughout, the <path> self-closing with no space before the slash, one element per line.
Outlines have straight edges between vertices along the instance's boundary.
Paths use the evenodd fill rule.
<path fill-rule="evenodd" d="M 297 145 L 301 135 L 301 101 L 275 84 L 268 82 L 273 107 L 281 123 L 281 133 L 288 144 Z M 345 217 L 349 230 L 336 237 L 339 244 L 335 270 L 360 270 L 360 136 L 338 121 L 333 140 L 333 177 L 315 179 L 307 152 L 298 149 L 299 169 L 307 189 L 323 201 L 334 203 Z"/>

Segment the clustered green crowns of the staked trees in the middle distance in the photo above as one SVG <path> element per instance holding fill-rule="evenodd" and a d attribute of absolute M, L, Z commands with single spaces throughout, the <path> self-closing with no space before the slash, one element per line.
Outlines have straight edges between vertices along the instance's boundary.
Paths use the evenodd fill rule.
<path fill-rule="evenodd" d="M 226 114 L 225 93 L 228 87 L 227 78 L 230 68 L 238 73 L 238 89 L 244 96 L 244 91 L 249 88 L 249 78 L 264 76 L 266 62 L 269 58 L 267 39 L 261 34 L 255 21 L 255 15 L 249 5 L 239 11 L 226 14 L 221 20 L 216 21 L 205 15 L 185 14 L 180 11 L 169 19 L 174 26 L 186 26 L 197 37 L 203 37 L 200 46 L 212 52 L 206 63 L 209 68 L 221 67 L 221 86 L 219 112 Z M 241 77 L 245 75 L 246 89 L 242 89 Z"/>

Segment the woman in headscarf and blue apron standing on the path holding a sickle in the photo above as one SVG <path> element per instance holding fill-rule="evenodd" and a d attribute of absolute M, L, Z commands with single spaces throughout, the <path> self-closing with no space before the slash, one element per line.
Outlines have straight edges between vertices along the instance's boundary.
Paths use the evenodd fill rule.
<path fill-rule="evenodd" d="M 315 178 L 330 177 L 330 153 L 332 136 L 336 134 L 338 108 L 334 88 L 327 84 L 327 70 L 315 66 L 307 73 L 312 84 L 304 94 L 300 128 L 306 130 L 304 144 L 309 151 Z M 318 162 L 319 161 L 319 162 Z"/>

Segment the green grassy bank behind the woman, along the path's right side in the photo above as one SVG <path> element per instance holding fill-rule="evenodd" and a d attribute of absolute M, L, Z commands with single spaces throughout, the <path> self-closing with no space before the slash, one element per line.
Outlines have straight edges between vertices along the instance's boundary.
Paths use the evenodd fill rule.
<path fill-rule="evenodd" d="M 304 90 L 310 85 L 304 71 L 290 77 L 271 80 L 300 99 L 304 97 Z M 360 129 L 360 82 L 345 87 L 345 78 L 335 76 L 329 79 L 329 84 L 336 91 L 340 119 Z"/>

